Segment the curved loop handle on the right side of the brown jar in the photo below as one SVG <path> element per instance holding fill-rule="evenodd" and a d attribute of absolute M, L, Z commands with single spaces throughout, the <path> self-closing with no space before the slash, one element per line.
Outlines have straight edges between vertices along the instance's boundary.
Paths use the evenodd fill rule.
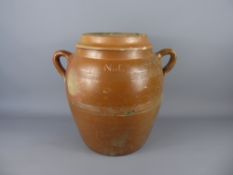
<path fill-rule="evenodd" d="M 156 56 L 159 60 L 161 60 L 166 55 L 169 55 L 170 58 L 168 63 L 163 67 L 164 75 L 170 72 L 176 64 L 176 52 L 173 49 L 167 48 L 156 52 Z"/>

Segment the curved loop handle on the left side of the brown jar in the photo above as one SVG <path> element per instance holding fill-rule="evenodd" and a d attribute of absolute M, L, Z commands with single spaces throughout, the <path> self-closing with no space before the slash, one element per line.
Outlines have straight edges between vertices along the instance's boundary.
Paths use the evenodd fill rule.
<path fill-rule="evenodd" d="M 53 55 L 53 64 L 57 70 L 57 72 L 63 77 L 65 78 L 66 76 L 66 69 L 63 67 L 63 65 L 61 64 L 61 57 L 65 58 L 67 60 L 67 62 L 70 62 L 71 59 L 71 55 L 72 53 L 66 50 L 58 50 L 54 53 Z"/>

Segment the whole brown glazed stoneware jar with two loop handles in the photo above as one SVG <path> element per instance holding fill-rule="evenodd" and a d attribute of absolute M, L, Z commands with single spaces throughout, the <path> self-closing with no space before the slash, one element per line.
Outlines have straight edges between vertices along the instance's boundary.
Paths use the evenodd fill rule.
<path fill-rule="evenodd" d="M 170 59 L 162 67 L 165 55 Z M 164 76 L 175 62 L 172 49 L 154 53 L 148 37 L 138 33 L 86 33 L 75 53 L 53 56 L 84 142 L 111 156 L 143 146 L 160 108 Z"/>

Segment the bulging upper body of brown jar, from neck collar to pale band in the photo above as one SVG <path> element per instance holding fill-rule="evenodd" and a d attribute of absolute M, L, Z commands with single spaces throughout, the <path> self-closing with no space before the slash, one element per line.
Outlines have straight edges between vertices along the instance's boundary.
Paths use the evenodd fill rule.
<path fill-rule="evenodd" d="M 74 58 L 67 69 L 67 93 L 88 104 L 143 103 L 162 94 L 163 73 L 155 58 Z"/>

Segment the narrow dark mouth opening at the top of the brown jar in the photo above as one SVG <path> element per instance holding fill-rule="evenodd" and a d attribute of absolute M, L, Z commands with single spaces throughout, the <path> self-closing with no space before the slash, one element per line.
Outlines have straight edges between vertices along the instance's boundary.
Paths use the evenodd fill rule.
<path fill-rule="evenodd" d="M 144 33 L 134 33 L 134 32 L 91 32 L 84 33 L 84 36 L 103 36 L 103 37 L 145 37 Z"/>

